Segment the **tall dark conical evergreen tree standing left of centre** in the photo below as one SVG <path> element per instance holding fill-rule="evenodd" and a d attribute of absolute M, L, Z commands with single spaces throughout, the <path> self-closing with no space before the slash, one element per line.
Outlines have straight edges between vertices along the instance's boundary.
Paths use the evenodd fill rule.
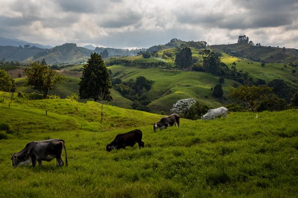
<path fill-rule="evenodd" d="M 80 98 L 111 101 L 111 88 L 112 83 L 108 68 L 98 53 L 91 53 L 87 64 L 83 66 L 83 75 L 79 82 Z"/>

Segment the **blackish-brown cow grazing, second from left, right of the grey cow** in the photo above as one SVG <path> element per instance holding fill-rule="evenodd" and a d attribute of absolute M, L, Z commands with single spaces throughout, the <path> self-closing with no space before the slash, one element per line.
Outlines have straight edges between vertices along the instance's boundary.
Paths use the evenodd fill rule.
<path fill-rule="evenodd" d="M 107 151 L 110 152 L 112 149 L 120 149 L 125 147 L 133 147 L 135 143 L 139 144 L 139 148 L 144 147 L 144 142 L 142 142 L 142 131 L 135 129 L 130 132 L 120 133 L 116 135 L 115 139 L 107 144 Z"/>

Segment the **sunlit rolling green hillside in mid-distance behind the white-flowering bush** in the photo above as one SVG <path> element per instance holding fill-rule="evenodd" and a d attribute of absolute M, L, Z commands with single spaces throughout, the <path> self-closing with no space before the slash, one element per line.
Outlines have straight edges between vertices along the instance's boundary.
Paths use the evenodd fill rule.
<path fill-rule="evenodd" d="M 164 70 L 160 68 L 144 69 L 138 66 L 110 66 L 113 73 L 120 72 L 115 78 L 121 78 L 122 81 L 136 79 L 138 76 L 145 76 L 154 81 L 148 97 L 152 101 L 149 104 L 154 112 L 165 111 L 169 109 L 179 99 L 194 98 L 202 101 L 209 106 L 216 107 L 220 101 L 212 96 L 211 87 L 218 83 L 218 78 L 211 74 L 203 72 L 186 72 Z M 228 87 L 235 83 L 226 80 L 223 84 L 224 92 Z"/>

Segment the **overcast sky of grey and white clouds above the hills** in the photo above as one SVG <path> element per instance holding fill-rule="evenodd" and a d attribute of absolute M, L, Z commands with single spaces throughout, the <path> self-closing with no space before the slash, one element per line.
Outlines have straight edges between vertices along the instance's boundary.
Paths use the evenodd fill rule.
<path fill-rule="evenodd" d="M 298 49 L 298 0 L 0 0 L 0 36 L 148 48 L 172 38 Z"/>

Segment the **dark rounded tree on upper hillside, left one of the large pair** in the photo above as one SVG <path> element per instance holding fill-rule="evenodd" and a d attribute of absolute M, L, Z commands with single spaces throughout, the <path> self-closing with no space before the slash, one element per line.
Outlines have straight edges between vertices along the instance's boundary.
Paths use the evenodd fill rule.
<path fill-rule="evenodd" d="M 175 58 L 175 65 L 177 67 L 188 68 L 192 63 L 192 53 L 190 48 L 182 48 Z"/>

